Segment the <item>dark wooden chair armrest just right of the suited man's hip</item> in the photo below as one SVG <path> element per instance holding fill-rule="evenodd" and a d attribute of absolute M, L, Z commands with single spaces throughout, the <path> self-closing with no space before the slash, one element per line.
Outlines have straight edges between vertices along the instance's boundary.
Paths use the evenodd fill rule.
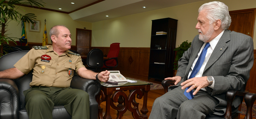
<path fill-rule="evenodd" d="M 226 119 L 231 119 L 232 115 L 232 103 L 236 96 L 244 96 L 248 91 L 237 91 L 237 90 L 228 90 L 226 92 L 226 100 L 227 100 L 227 109 L 224 117 Z"/>

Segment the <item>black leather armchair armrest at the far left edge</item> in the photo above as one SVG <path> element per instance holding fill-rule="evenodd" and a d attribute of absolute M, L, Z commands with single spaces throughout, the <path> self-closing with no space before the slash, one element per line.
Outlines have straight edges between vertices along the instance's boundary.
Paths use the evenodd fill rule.
<path fill-rule="evenodd" d="M 18 119 L 20 110 L 19 90 L 11 79 L 0 79 L 1 119 Z"/>

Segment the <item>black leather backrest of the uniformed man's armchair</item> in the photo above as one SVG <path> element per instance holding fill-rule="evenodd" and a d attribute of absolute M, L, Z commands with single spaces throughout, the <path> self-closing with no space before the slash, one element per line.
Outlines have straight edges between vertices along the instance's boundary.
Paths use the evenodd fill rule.
<path fill-rule="evenodd" d="M 0 57 L 0 71 L 14 68 L 14 64 L 19 61 L 28 51 L 17 51 L 8 53 Z M 33 70 L 31 70 L 28 74 L 23 75 L 22 77 L 15 79 L 15 83 L 19 90 L 19 98 L 20 98 L 20 108 L 25 108 L 25 96 L 23 95 L 23 91 L 30 89 L 29 83 L 32 81 Z"/>

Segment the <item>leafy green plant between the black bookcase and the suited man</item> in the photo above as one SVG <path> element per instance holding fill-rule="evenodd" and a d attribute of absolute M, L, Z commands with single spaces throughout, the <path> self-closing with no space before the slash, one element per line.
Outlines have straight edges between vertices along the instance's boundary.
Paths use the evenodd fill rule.
<path fill-rule="evenodd" d="M 175 60 L 174 60 L 174 65 L 173 65 L 173 70 L 174 70 L 174 72 L 177 72 L 177 69 L 178 69 L 178 61 L 180 60 L 180 58 L 182 57 L 182 55 L 183 55 L 183 53 L 185 52 L 185 51 L 187 51 L 187 49 L 188 48 L 190 48 L 191 47 L 191 42 L 190 43 L 188 43 L 187 42 L 187 40 L 186 41 L 184 41 L 179 47 L 177 47 L 177 48 L 175 48 L 174 49 L 174 51 L 177 51 L 177 53 L 176 53 L 176 58 L 175 58 Z M 175 75 L 176 75 L 176 73 L 175 73 Z M 174 75 L 174 76 L 175 76 Z"/>

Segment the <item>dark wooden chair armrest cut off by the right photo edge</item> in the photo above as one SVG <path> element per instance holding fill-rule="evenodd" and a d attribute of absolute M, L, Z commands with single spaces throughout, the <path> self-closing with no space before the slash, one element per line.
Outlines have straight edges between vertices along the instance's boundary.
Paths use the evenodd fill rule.
<path fill-rule="evenodd" d="M 246 115 L 244 119 L 252 119 L 252 108 L 253 108 L 253 104 L 256 100 L 256 94 L 253 93 L 247 93 L 244 96 L 244 101 L 247 107 L 247 111 L 246 111 Z"/>

